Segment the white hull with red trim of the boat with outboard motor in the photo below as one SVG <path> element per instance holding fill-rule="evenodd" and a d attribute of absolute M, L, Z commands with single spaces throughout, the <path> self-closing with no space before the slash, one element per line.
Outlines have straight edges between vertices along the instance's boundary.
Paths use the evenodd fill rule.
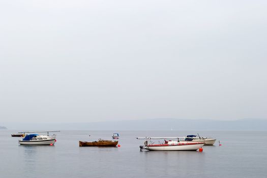
<path fill-rule="evenodd" d="M 196 151 L 204 143 L 179 143 L 179 144 L 156 144 L 144 146 L 145 150 L 150 151 Z"/>

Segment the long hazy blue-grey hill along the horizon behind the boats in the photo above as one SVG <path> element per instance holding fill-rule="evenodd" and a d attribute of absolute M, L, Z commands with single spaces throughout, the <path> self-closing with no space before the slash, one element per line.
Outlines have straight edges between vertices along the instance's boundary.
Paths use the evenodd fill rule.
<path fill-rule="evenodd" d="M 19 124 L 19 123 L 18 123 Z M 92 123 L 20 123 L 10 126 L 20 130 L 221 130 L 221 131 L 267 131 L 267 120 L 242 119 L 236 121 L 185 120 L 176 118 L 155 118 L 149 120 L 112 121 Z"/>

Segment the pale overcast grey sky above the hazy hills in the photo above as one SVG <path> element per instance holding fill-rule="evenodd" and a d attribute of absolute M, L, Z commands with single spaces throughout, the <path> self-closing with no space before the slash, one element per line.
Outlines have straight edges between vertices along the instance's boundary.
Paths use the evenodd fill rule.
<path fill-rule="evenodd" d="M 2 0 L 0 120 L 267 118 L 266 9 Z"/>

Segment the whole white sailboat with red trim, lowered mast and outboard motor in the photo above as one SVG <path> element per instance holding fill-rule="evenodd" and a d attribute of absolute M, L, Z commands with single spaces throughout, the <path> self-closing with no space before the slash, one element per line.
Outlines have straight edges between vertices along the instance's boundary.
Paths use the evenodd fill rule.
<path fill-rule="evenodd" d="M 176 138 L 177 141 L 173 140 L 165 140 Z M 142 150 L 150 150 L 150 151 L 196 151 L 200 149 L 205 143 L 204 142 L 188 142 L 188 141 L 180 141 L 179 138 L 185 137 L 144 137 L 137 139 L 146 139 L 144 145 L 139 146 L 140 151 Z M 154 144 L 151 139 L 164 139 L 164 143 Z"/>

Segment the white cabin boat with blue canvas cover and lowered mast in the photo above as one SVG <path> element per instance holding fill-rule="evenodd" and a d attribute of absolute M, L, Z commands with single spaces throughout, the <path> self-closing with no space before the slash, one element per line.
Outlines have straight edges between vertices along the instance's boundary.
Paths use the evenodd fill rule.
<path fill-rule="evenodd" d="M 39 134 L 29 134 L 26 135 L 22 140 L 19 140 L 21 145 L 53 145 L 56 141 L 56 135 L 53 134 L 49 136 L 49 132 L 59 132 L 59 131 L 35 131 L 35 132 L 24 132 L 24 133 L 38 133 L 38 132 L 47 132 L 47 135 Z"/>

